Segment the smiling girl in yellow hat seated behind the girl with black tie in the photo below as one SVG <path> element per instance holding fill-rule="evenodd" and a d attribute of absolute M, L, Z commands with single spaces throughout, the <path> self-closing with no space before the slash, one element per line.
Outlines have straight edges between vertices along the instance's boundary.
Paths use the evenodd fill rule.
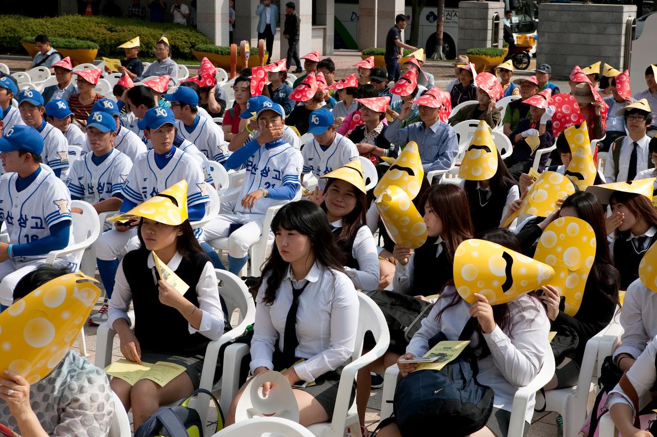
<path fill-rule="evenodd" d="M 344 271 L 354 287 L 363 291 L 378 289 L 379 262 L 376 241 L 365 224 L 365 181 L 358 160 L 327 173 L 323 192 L 315 188 L 309 199 L 327 214 L 338 247 L 344 255 Z M 352 184 L 349 179 L 355 182 Z"/>

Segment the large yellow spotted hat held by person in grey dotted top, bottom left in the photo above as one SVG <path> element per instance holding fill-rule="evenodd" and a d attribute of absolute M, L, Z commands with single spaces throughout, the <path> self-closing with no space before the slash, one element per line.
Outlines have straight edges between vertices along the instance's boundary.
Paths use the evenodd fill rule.
<path fill-rule="evenodd" d="M 41 285 L 0 314 L 0 372 L 35 384 L 68 354 L 101 295 L 98 282 L 70 273 Z"/>

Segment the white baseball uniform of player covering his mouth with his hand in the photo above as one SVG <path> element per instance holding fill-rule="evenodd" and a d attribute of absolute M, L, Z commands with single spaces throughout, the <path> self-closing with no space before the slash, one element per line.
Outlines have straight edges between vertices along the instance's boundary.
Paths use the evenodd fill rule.
<path fill-rule="evenodd" d="M 246 257 L 248 248 L 260 239 L 267 208 L 286 201 L 261 198 L 254 203 L 252 209 L 244 209 L 242 198 L 258 188 L 269 190 L 289 183 L 300 184 L 302 164 L 301 152 L 290 144 L 284 143 L 273 148 L 260 147 L 242 167 L 246 169 L 246 176 L 237 201 L 221 205 L 224 213 L 204 226 L 206 240 L 229 236 L 230 225 L 241 223 L 243 226 L 229 236 L 228 254 L 235 258 Z"/>

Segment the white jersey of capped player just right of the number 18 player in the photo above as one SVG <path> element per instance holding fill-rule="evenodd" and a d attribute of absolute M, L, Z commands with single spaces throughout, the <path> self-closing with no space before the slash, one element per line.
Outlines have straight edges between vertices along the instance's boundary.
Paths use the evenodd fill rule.
<path fill-rule="evenodd" d="M 132 161 L 116 149 L 100 165 L 93 163 L 92 157 L 89 153 L 73 163 L 66 186 L 72 197 L 93 205 L 121 192 Z"/>

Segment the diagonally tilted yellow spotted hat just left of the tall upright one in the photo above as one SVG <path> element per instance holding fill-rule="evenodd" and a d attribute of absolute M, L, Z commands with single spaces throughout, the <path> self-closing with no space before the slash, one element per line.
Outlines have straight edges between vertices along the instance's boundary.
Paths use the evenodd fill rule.
<path fill-rule="evenodd" d="M 520 204 L 520 209 L 510 215 L 502 226 L 509 226 L 516 217 L 522 214 L 547 217 L 555 211 L 556 201 L 565 199 L 574 192 L 575 186 L 570 179 L 556 171 L 544 171 L 528 188 L 527 195 Z"/>

